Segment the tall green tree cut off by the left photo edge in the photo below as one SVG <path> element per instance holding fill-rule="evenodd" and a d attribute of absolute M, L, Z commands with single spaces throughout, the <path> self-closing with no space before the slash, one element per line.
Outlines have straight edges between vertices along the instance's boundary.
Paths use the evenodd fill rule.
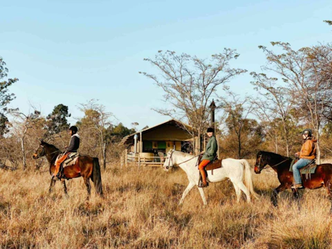
<path fill-rule="evenodd" d="M 0 57 L 0 136 L 3 136 L 3 134 L 8 131 L 6 106 L 10 103 L 10 101 L 15 99 L 15 94 L 9 93 L 8 88 L 18 80 L 17 78 L 11 79 L 7 77 L 8 68 L 6 68 L 6 62 L 4 62 L 2 57 Z M 7 80 L 4 80 L 6 78 Z M 1 82 L 1 80 L 3 81 Z"/>

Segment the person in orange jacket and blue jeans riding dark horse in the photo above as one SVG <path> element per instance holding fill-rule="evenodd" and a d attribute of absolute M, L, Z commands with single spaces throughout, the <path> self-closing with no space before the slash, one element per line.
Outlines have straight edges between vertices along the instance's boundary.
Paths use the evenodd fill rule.
<path fill-rule="evenodd" d="M 305 167 L 316 158 L 315 142 L 317 142 L 317 140 L 313 137 L 311 129 L 304 129 L 304 131 L 302 131 L 302 138 L 304 142 L 301 151 L 295 153 L 295 156 L 299 156 L 299 160 L 293 165 L 295 186 L 292 186 L 292 188 L 303 188 L 299 169 Z"/>

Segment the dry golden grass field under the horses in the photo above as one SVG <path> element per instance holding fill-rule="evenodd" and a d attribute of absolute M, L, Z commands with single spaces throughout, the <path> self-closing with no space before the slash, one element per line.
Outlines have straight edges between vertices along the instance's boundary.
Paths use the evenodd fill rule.
<path fill-rule="evenodd" d="M 261 199 L 240 203 L 229 181 L 196 188 L 178 206 L 187 178 L 181 169 L 102 172 L 104 199 L 86 201 L 82 178 L 48 194 L 48 169 L 0 172 L 0 248 L 331 248 L 332 218 L 323 189 L 291 192 L 270 204 L 274 172 L 254 175 Z M 93 187 L 94 193 L 94 187 Z"/>

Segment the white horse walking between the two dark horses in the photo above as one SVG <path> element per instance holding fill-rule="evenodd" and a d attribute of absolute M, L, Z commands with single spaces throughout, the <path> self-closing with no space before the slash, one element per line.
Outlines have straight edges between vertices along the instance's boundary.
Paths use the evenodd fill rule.
<path fill-rule="evenodd" d="M 167 154 L 167 157 L 165 158 L 163 169 L 165 171 L 168 171 L 174 165 L 178 165 L 179 167 L 181 167 L 181 169 L 185 171 L 189 179 L 189 184 L 185 189 L 185 192 L 183 192 L 180 203 L 178 203 L 178 205 L 181 205 L 183 203 L 183 200 L 185 199 L 185 196 L 187 196 L 188 192 L 192 190 L 192 187 L 194 187 L 194 185 L 199 185 L 199 169 L 197 166 L 197 156 L 192 156 L 181 151 L 170 150 Z M 244 178 L 246 185 L 243 184 L 243 174 L 245 175 Z M 223 159 L 221 168 L 213 169 L 213 175 L 208 172 L 207 181 L 210 183 L 218 183 L 229 178 L 234 185 L 235 193 L 237 194 L 237 202 L 240 201 L 242 190 L 243 193 L 246 194 L 247 202 L 250 203 L 250 193 L 256 199 L 259 198 L 259 195 L 255 192 L 252 185 L 251 176 L 251 168 L 247 160 L 226 158 Z M 208 204 L 205 199 L 203 188 L 201 187 L 199 187 L 199 194 L 201 194 L 204 205 Z"/>

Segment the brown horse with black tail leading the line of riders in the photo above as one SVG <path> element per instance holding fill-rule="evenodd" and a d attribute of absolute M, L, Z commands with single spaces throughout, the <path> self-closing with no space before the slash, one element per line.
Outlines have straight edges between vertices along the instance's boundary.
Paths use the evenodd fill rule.
<path fill-rule="evenodd" d="M 37 159 L 42 156 L 46 156 L 48 163 L 50 163 L 50 174 L 52 175 L 55 169 L 55 160 L 61 153 L 62 151 L 59 151 L 59 149 L 57 149 L 57 147 L 54 145 L 50 145 L 47 142 L 41 140 L 38 149 L 36 150 L 35 154 L 33 154 L 33 158 Z M 100 165 L 98 158 L 92 158 L 91 156 L 80 156 L 75 165 L 64 168 L 63 176 L 64 178 L 61 179 L 61 182 L 62 186 L 64 187 L 65 194 L 67 194 L 65 179 L 68 180 L 82 176 L 86 185 L 86 189 L 88 190 L 88 199 L 91 194 L 90 178 L 95 185 L 95 192 L 102 195 L 102 178 L 100 175 Z M 52 191 L 56 181 L 57 180 L 55 177 L 50 179 L 49 192 Z"/>

